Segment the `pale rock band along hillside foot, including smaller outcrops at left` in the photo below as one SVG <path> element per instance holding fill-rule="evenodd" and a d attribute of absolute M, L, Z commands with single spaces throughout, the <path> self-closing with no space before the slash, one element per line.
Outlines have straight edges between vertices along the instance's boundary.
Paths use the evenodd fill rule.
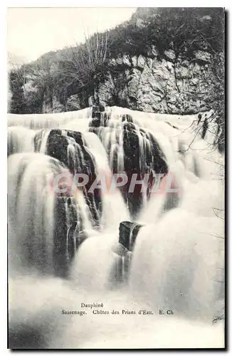
<path fill-rule="evenodd" d="M 154 46 L 147 50 L 147 56 L 131 57 L 121 53 L 110 59 L 100 83 L 93 85 L 94 96 L 104 106 L 117 105 L 132 110 L 181 115 L 206 111 L 209 110 L 206 98 L 211 90 L 210 63 L 211 55 L 206 51 L 196 51 L 191 60 L 180 57 L 178 61 L 174 51 L 164 51 L 160 57 Z M 34 108 L 35 112 L 86 107 L 84 93 L 72 94 L 70 90 L 66 94 L 69 96 L 61 98 L 48 90 L 42 95 L 33 80 L 27 75 L 22 89 L 28 108 Z M 87 92 L 89 89 L 86 87 Z"/>

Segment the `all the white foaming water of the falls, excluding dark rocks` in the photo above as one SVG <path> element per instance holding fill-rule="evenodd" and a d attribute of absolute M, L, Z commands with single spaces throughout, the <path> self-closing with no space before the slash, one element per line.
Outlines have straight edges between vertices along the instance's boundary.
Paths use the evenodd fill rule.
<path fill-rule="evenodd" d="M 9 126 L 14 125 L 9 128 L 9 140 L 16 147 L 13 152 L 19 152 L 9 157 L 12 333 L 20 333 L 20 325 L 26 325 L 42 335 L 41 345 L 48 348 L 223 347 L 223 323 L 212 323 L 223 314 L 224 266 L 223 215 L 216 216 L 223 214 L 224 206 L 223 181 L 218 179 L 223 174 L 223 156 L 209 145 L 215 127 L 204 142 L 196 135 L 197 115 L 159 115 L 117 107 L 106 111 L 113 121 L 102 134 L 103 145 L 97 135 L 88 132 L 89 109 L 9 115 Z M 120 222 L 130 218 L 120 192 L 105 192 L 99 231 L 91 229 L 84 214 L 90 237 L 75 255 L 70 278 L 51 278 L 48 273 L 42 278 L 39 266 L 46 262 L 49 271 L 52 259 L 54 201 L 46 194 L 48 178 L 63 167 L 51 164 L 45 150 L 43 154 L 21 153 L 31 150 L 24 145 L 22 132 L 28 137 L 26 142 L 31 142 L 33 130 L 41 128 L 83 132 L 97 172 L 111 178 L 114 150 L 119 153 L 117 168 L 122 168 L 122 114 L 132 115 L 137 127 L 152 132 L 159 142 L 180 189 L 179 205 L 161 214 L 164 194 L 153 194 L 144 205 L 138 217 L 144 226 L 135 243 L 129 280 L 120 284 L 112 276 L 118 261 L 115 244 Z M 184 155 L 178 152 L 180 141 L 185 145 Z M 105 151 L 108 145 L 111 158 Z M 78 204 L 85 211 L 81 197 Z M 31 244 L 28 256 L 25 246 Z M 25 261 L 34 268 L 29 269 Z M 95 310 L 109 314 L 93 314 L 93 310 L 81 308 L 81 303 L 103 303 Z M 62 310 L 85 310 L 87 314 L 62 315 Z M 112 315 L 112 310 L 120 314 Z M 136 314 L 122 315 L 122 310 Z M 152 314 L 139 315 L 139 310 Z M 173 315 L 165 315 L 167 310 Z"/>

